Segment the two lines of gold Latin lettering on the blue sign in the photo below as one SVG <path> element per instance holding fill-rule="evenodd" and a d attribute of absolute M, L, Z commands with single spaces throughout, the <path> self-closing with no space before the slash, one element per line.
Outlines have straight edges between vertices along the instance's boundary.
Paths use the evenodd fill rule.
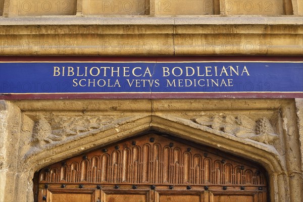
<path fill-rule="evenodd" d="M 235 77 L 250 76 L 244 66 L 173 66 L 157 69 L 165 80 L 153 79 L 155 69 L 146 67 L 54 66 L 54 77 L 74 77 L 73 87 L 232 87 Z M 86 79 L 93 77 L 94 79 Z M 119 78 L 118 78 L 119 77 Z M 138 79 L 122 78 L 134 77 Z M 169 77 L 169 78 L 168 78 Z M 228 78 L 231 77 L 231 78 Z M 163 82 L 163 83 L 162 83 Z"/>

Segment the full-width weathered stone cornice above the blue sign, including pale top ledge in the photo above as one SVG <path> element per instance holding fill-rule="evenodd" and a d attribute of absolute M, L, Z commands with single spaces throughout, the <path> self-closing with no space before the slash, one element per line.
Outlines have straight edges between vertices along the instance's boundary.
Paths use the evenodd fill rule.
<path fill-rule="evenodd" d="M 1 22 L 2 55 L 299 55 L 303 44 L 298 17 L 32 17 Z"/>

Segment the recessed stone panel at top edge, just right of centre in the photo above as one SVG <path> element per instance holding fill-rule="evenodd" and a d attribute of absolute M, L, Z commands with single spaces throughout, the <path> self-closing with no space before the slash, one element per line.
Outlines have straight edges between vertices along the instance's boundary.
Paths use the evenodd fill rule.
<path fill-rule="evenodd" d="M 156 0 L 155 15 L 214 15 L 213 0 Z"/>

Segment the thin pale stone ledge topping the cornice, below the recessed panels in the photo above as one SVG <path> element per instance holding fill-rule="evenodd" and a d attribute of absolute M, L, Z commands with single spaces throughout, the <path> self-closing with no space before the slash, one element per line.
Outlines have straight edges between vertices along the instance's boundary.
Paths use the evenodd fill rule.
<path fill-rule="evenodd" d="M 303 25 L 297 16 L 30 16 L 0 17 L 1 25 Z"/>

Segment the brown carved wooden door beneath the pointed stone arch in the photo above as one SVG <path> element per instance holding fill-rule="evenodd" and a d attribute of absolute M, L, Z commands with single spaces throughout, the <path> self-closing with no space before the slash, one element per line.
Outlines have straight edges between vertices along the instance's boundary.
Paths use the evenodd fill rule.
<path fill-rule="evenodd" d="M 39 172 L 39 202 L 266 202 L 256 163 L 176 137 L 148 134 Z"/>

